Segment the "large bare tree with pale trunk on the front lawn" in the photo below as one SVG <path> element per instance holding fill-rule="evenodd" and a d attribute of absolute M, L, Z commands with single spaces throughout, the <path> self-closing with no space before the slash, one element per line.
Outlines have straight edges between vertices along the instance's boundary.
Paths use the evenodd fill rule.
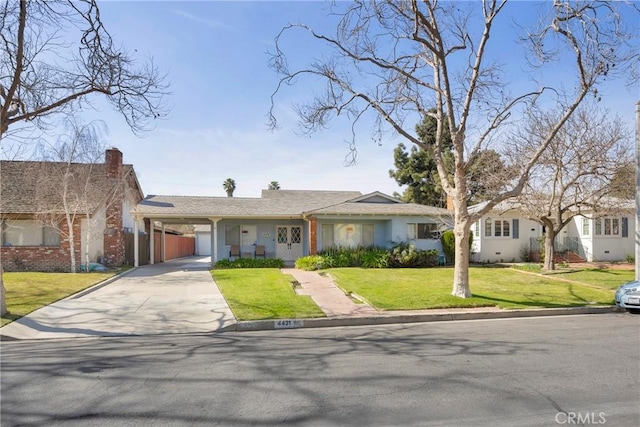
<path fill-rule="evenodd" d="M 442 188 L 453 202 L 456 257 L 452 294 L 470 297 L 467 248 L 471 224 L 499 202 L 520 194 L 529 171 L 578 105 L 589 94 L 599 96 L 598 83 L 603 78 L 620 75 L 637 62 L 637 51 L 629 44 L 637 40 L 637 32 L 625 30 L 618 12 L 625 6 L 563 0 L 540 4 L 544 15 L 538 25 L 521 28 L 522 47 L 536 68 L 548 69 L 562 61 L 573 72 L 548 73 L 552 76 L 549 81 L 532 79 L 529 87 L 516 94 L 509 92 L 510 79 L 491 56 L 504 49 L 492 46 L 497 37 L 491 36 L 499 19 L 505 15 L 508 19 L 506 1 L 358 0 L 337 2 L 333 7 L 331 16 L 339 19 L 335 33 L 321 34 L 296 24 L 276 36 L 271 65 L 281 78 L 272 95 L 270 124 L 273 128 L 278 125 L 275 97 L 287 85 L 308 77 L 305 83 L 320 81 L 325 89 L 318 93 L 314 87 L 318 94 L 295 107 L 303 130 L 314 132 L 333 117 L 345 116 L 352 124 L 355 145 L 357 124 L 373 113 L 374 139 L 379 141 L 390 129 L 428 151 Z M 300 40 L 297 30 L 327 52 L 308 66 L 290 68 L 285 43 L 287 35 Z M 517 165 L 506 165 L 517 167 L 519 178 L 505 182 L 482 210 L 469 212 L 467 175 L 479 153 L 497 141 L 507 141 L 511 124 L 539 115 L 549 105 L 560 114 L 547 135 Z M 429 111 L 434 107 L 435 111 Z M 423 143 L 411 125 L 425 116 L 437 122 L 432 144 Z M 442 156 L 445 127 L 453 145 L 451 175 Z"/>

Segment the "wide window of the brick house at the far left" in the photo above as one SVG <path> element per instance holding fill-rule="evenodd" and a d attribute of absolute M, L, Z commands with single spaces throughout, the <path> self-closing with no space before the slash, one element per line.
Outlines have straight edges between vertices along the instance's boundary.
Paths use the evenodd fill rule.
<path fill-rule="evenodd" d="M 36 220 L 2 222 L 3 246 L 60 246 L 60 233 Z"/>

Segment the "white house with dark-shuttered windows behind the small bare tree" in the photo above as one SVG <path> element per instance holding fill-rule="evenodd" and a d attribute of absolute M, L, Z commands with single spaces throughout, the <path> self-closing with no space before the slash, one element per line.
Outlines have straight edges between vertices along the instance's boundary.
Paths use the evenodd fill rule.
<path fill-rule="evenodd" d="M 480 209 L 484 204 L 470 207 Z M 622 201 L 619 214 L 574 217 L 556 236 L 557 253 L 573 253 L 585 261 L 625 261 L 634 254 L 634 201 Z M 537 261 L 544 228 L 526 218 L 516 202 L 505 201 L 471 226 L 473 262 Z"/>

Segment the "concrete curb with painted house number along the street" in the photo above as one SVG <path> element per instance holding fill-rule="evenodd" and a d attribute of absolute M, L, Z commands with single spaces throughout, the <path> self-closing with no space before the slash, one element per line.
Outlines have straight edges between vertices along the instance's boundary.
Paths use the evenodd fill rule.
<path fill-rule="evenodd" d="M 268 331 L 275 329 L 330 328 L 338 326 L 390 325 L 401 323 L 446 322 L 452 320 L 507 319 L 516 317 L 570 316 L 624 312 L 613 306 L 540 308 L 504 311 L 455 311 L 450 313 L 420 313 L 365 317 L 332 317 L 311 319 L 276 319 L 240 321 L 224 328 L 224 332 Z"/>

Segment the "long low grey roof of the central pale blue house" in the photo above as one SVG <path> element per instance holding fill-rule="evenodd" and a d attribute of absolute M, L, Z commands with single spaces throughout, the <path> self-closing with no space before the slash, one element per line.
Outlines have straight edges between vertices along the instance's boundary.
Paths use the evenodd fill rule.
<path fill-rule="evenodd" d="M 302 218 L 305 215 L 450 215 L 446 209 L 405 203 L 383 193 L 263 190 L 260 198 L 150 195 L 133 213 L 151 217 Z"/>

